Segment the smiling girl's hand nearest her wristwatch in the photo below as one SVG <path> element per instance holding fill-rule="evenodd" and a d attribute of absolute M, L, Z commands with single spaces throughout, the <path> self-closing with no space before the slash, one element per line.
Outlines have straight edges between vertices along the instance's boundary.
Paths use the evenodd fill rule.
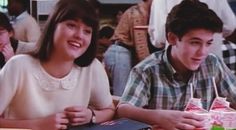
<path fill-rule="evenodd" d="M 68 107 L 65 109 L 65 113 L 72 126 L 87 124 L 92 118 L 92 111 L 82 106 Z"/>

